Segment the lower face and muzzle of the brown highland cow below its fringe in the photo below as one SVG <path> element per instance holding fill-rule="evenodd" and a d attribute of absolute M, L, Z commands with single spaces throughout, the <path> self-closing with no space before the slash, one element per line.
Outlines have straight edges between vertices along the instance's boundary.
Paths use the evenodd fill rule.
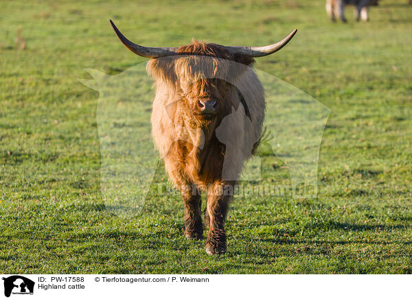
<path fill-rule="evenodd" d="M 189 80 L 181 84 L 183 102 L 198 122 L 220 115 L 228 88 L 227 82 L 220 79 Z"/>

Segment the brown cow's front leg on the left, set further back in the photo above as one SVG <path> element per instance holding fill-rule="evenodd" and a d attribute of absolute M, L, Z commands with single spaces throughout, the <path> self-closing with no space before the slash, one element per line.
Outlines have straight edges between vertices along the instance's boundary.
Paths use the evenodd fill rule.
<path fill-rule="evenodd" d="M 185 237 L 203 239 L 201 193 L 195 186 L 187 186 L 181 189 L 181 195 L 185 203 Z"/>

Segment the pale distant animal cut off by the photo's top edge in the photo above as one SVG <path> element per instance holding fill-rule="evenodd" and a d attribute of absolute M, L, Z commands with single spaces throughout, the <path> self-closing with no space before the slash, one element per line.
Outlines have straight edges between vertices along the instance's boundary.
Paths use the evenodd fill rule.
<path fill-rule="evenodd" d="M 355 19 L 359 21 L 361 18 L 363 21 L 368 21 L 368 10 L 371 5 L 378 5 L 378 0 L 326 0 L 326 12 L 332 21 L 335 21 L 336 16 L 341 21 L 346 22 L 345 18 L 345 6 L 355 5 Z"/>

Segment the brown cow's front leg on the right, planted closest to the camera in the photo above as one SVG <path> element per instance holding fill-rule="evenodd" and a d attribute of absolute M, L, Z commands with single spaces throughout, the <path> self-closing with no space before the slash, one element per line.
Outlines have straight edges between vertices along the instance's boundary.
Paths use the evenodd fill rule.
<path fill-rule="evenodd" d="M 230 185 L 223 182 L 216 182 L 207 190 L 207 214 L 210 219 L 206 241 L 207 254 L 226 252 L 225 219 L 232 195 Z"/>

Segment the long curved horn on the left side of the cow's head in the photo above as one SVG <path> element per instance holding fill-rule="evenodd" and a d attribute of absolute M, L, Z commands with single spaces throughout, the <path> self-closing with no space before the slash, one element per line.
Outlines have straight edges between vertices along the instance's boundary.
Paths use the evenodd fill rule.
<path fill-rule="evenodd" d="M 133 53 L 146 57 L 146 58 L 160 58 L 160 57 L 165 57 L 165 56 L 173 56 L 176 55 L 177 47 L 159 47 L 159 48 L 154 48 L 154 47 L 142 47 L 139 45 L 136 45 L 135 43 L 130 42 L 123 34 L 122 32 L 117 29 L 116 25 L 113 23 L 113 21 L 110 20 L 110 23 L 113 27 L 113 30 L 115 30 L 115 34 L 117 38 L 119 38 L 120 42 L 122 42 L 123 45 L 126 46 L 127 49 L 132 51 Z"/>

